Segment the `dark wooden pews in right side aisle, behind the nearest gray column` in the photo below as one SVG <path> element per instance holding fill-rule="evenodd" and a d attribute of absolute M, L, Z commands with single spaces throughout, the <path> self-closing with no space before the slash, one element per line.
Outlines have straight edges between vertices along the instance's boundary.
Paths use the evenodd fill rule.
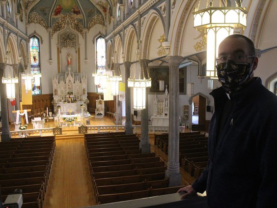
<path fill-rule="evenodd" d="M 168 153 L 168 134 L 154 135 L 154 145 Z M 179 162 L 191 177 L 199 178 L 208 161 L 208 138 L 200 131 L 179 135 Z"/>

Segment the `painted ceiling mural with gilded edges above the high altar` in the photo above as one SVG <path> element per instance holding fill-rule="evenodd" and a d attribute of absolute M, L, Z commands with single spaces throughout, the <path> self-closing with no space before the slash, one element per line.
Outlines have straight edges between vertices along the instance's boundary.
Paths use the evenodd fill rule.
<path fill-rule="evenodd" d="M 67 22 L 83 36 L 84 28 L 90 30 L 107 21 L 110 24 L 111 18 L 109 0 L 19 0 L 18 9 L 21 17 L 23 11 L 27 14 L 27 23 L 39 24 L 46 30 L 53 28 L 52 36 Z"/>

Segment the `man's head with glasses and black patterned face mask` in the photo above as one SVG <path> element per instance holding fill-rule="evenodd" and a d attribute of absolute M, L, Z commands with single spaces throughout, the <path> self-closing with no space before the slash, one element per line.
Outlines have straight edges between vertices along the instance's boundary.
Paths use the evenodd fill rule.
<path fill-rule="evenodd" d="M 226 37 L 219 45 L 217 64 L 218 77 L 226 91 L 243 89 L 258 65 L 253 42 L 240 34 Z"/>

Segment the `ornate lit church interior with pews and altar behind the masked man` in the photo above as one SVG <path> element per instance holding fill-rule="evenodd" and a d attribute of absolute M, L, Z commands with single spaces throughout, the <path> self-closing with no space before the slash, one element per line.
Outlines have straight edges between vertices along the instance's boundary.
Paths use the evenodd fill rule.
<path fill-rule="evenodd" d="M 179 199 L 177 190 L 207 162 L 223 36 L 253 41 L 254 76 L 277 94 L 276 0 L 0 0 L 0 6 L 0 194 L 24 186 L 23 208 L 116 207 L 126 200 L 135 208 L 150 207 L 152 196 L 163 204 L 165 194 Z M 238 15 L 234 22 L 229 9 Z M 38 146 L 45 152 L 35 152 Z M 32 159 L 23 160 L 28 153 Z M 129 163 L 120 163 L 126 155 Z M 22 182 L 36 171 L 42 183 Z M 8 183 L 15 179 L 17 185 Z"/>

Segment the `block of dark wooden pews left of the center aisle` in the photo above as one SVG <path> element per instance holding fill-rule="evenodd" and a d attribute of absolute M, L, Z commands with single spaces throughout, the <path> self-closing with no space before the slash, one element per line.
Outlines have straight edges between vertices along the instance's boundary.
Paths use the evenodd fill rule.
<path fill-rule="evenodd" d="M 16 189 L 21 189 L 22 208 L 43 208 L 54 154 L 55 136 L 0 142 L 2 202 Z"/>

